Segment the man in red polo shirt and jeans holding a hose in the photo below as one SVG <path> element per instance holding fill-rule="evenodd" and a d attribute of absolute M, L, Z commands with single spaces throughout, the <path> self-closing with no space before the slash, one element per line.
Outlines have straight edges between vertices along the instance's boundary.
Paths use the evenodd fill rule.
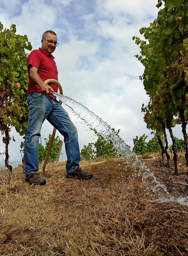
<path fill-rule="evenodd" d="M 27 60 L 29 115 L 24 144 L 25 175 L 26 182 L 34 185 L 46 184 L 46 180 L 38 174 L 38 142 L 45 119 L 64 136 L 67 177 L 81 180 L 93 177 L 91 173 L 86 173 L 79 167 L 80 151 L 75 125 L 56 97 L 50 94 L 57 92 L 58 86 L 44 83 L 47 79 L 58 80 L 58 71 L 52 55 L 57 45 L 56 33 L 47 30 L 42 35 L 41 48 L 31 51 Z"/>

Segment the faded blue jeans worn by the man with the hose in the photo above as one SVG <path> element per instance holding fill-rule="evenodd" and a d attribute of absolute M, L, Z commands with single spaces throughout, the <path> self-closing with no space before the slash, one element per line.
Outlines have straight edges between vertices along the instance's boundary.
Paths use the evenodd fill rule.
<path fill-rule="evenodd" d="M 38 92 L 29 93 L 27 102 L 29 116 L 24 143 L 25 175 L 38 172 L 38 143 L 45 119 L 63 135 L 67 155 L 66 171 L 74 171 L 80 162 L 78 133 L 66 110 L 56 99 Z"/>

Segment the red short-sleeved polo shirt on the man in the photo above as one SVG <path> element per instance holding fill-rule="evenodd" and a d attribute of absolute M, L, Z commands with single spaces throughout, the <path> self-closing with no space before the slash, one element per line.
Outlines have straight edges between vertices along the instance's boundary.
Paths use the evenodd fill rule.
<path fill-rule="evenodd" d="M 36 67 L 37 73 L 42 79 L 42 81 L 45 81 L 47 79 L 56 79 L 58 80 L 58 70 L 56 66 L 56 62 L 54 61 L 54 57 L 52 54 L 47 53 L 42 48 L 39 48 L 38 50 L 33 50 L 28 58 L 27 58 L 27 67 L 28 65 L 32 65 L 33 67 Z M 28 77 L 29 77 L 29 84 L 28 84 L 28 90 L 27 94 L 30 92 L 40 92 L 45 94 L 41 91 L 41 87 L 36 84 L 31 77 L 29 76 L 29 69 L 28 69 Z M 49 84 L 54 92 L 58 92 L 58 86 L 56 84 L 50 83 Z M 56 98 L 52 94 L 49 94 L 48 96 L 51 96 L 53 98 Z"/>

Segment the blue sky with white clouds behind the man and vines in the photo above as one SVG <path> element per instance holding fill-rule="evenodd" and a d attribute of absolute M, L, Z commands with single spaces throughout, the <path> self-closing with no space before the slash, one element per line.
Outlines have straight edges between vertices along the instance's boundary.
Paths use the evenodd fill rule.
<path fill-rule="evenodd" d="M 132 37 L 141 37 L 139 29 L 149 27 L 157 18 L 156 4 L 157 0 L 0 0 L 0 22 L 4 28 L 16 24 L 16 33 L 27 35 L 33 50 L 41 46 L 44 31 L 55 31 L 59 45 L 53 56 L 63 94 L 80 102 L 111 128 L 120 129 L 120 137 L 132 148 L 136 136 L 152 138 L 141 113 L 142 104 L 147 104 L 149 98 L 139 80 L 144 69 L 135 58 L 140 49 Z M 97 138 L 89 127 L 63 107 L 77 127 L 80 150 L 95 142 Z M 44 138 L 52 131 L 45 121 L 40 140 L 43 146 Z M 63 140 L 61 134 L 56 135 Z M 174 135 L 182 138 L 180 127 L 175 128 Z M 14 128 L 11 136 L 16 141 L 9 144 L 9 161 L 16 167 L 21 163 L 23 138 Z M 0 152 L 4 151 L 5 144 L 0 143 Z M 4 156 L 0 157 L 3 165 Z M 60 161 L 63 159 L 64 147 Z"/>

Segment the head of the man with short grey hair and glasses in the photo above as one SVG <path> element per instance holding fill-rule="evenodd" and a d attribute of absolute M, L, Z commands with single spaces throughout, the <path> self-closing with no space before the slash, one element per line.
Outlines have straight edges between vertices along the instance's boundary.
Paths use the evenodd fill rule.
<path fill-rule="evenodd" d="M 57 40 L 58 38 L 56 33 L 52 30 L 47 30 L 42 35 L 41 48 L 47 53 L 53 53 L 58 45 Z"/>

